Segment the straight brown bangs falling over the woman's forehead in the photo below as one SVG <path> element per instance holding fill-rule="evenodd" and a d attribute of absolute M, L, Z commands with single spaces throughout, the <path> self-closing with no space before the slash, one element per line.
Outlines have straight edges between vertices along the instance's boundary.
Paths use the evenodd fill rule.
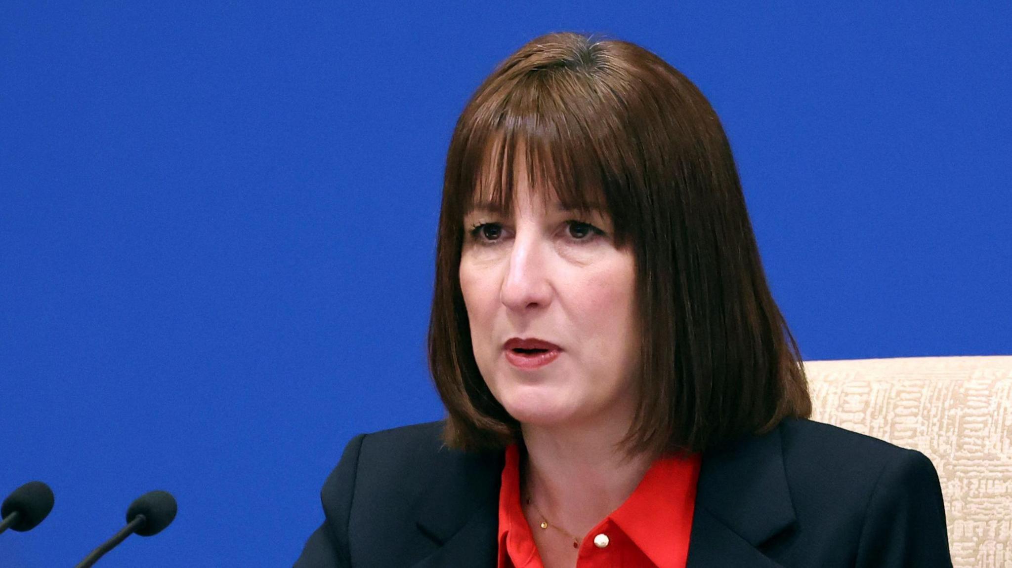
<path fill-rule="evenodd" d="M 626 244 L 636 223 L 627 214 L 630 190 L 620 180 L 629 178 L 635 164 L 619 144 L 628 144 L 628 136 L 595 123 L 617 109 L 588 104 L 593 97 L 573 77 L 534 76 L 514 85 L 509 96 L 490 92 L 476 101 L 472 122 L 458 125 L 466 140 L 458 149 L 459 175 L 445 188 L 459 223 L 475 209 L 508 216 L 518 176 L 524 176 L 542 206 L 558 200 L 572 211 L 605 215 L 614 223 L 616 246 Z"/>

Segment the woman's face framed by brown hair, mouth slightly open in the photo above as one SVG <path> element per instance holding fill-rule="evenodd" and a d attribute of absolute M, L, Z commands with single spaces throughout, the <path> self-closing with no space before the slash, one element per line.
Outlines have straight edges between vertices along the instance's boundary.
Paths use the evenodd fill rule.
<path fill-rule="evenodd" d="M 520 175 L 511 215 L 476 209 L 463 219 L 460 288 L 478 368 L 521 423 L 627 425 L 638 400 L 634 254 L 614 247 L 602 214 L 564 211 L 557 200 L 542 208 L 530 191 Z M 519 355 L 511 339 L 559 350 L 537 366 L 544 354 Z"/>

